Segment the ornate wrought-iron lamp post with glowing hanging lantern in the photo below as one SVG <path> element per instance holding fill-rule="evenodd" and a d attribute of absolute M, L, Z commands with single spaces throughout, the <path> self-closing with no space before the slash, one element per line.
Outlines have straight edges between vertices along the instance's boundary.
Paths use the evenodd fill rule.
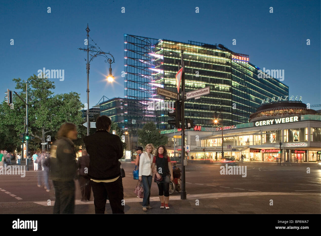
<path fill-rule="evenodd" d="M 89 69 L 90 69 L 90 62 L 92 61 L 92 59 L 94 59 L 95 57 L 98 57 L 98 56 L 103 56 L 103 57 L 106 57 L 107 60 L 105 60 L 105 62 L 109 63 L 109 74 L 108 74 L 108 77 L 107 77 L 107 80 L 108 82 L 112 82 L 114 80 L 114 76 L 111 74 L 111 64 L 115 62 L 115 59 L 113 57 L 113 55 L 111 55 L 109 52 L 106 53 L 106 52 L 103 52 L 101 51 L 100 47 L 97 46 L 97 48 L 91 44 L 89 44 L 89 27 L 88 27 L 88 24 L 87 24 L 87 28 L 86 28 L 86 31 L 87 31 L 87 48 L 78 48 L 79 50 L 83 50 L 85 52 L 87 52 L 87 60 L 85 59 L 85 61 L 87 62 L 86 63 L 86 69 L 87 69 L 87 136 L 89 135 Z M 91 41 L 94 42 L 94 40 L 91 39 Z M 86 43 L 86 42 L 85 42 Z M 95 43 L 95 42 L 94 42 Z M 97 45 L 95 43 L 95 45 Z M 93 55 L 90 54 L 90 60 L 89 60 L 89 52 L 92 52 L 94 53 Z M 109 54 L 113 59 L 109 58 L 106 54 Z"/>

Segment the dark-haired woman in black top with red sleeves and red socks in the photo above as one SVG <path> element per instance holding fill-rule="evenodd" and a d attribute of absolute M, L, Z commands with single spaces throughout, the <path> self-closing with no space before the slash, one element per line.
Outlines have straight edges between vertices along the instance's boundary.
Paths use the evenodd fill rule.
<path fill-rule="evenodd" d="M 156 176 L 154 181 L 157 183 L 160 198 L 160 208 L 169 209 L 169 181 L 173 180 L 173 168 L 170 162 L 169 156 L 167 155 L 167 150 L 164 145 L 158 146 L 155 151 L 155 156 L 153 158 L 152 170 L 154 170 L 155 165 L 157 166 Z M 156 181 L 162 177 L 161 181 Z"/>

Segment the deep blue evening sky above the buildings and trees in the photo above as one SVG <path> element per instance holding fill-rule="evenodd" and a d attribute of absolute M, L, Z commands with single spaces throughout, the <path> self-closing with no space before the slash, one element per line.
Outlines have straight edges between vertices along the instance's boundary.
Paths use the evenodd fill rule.
<path fill-rule="evenodd" d="M 290 96 L 300 95 L 311 105 L 321 103 L 320 1 L 2 1 L 0 15 L 3 97 L 7 88 L 14 90 L 13 78 L 26 80 L 46 67 L 65 70 L 64 81 L 51 79 L 55 93 L 78 92 L 85 103 L 86 53 L 77 48 L 85 47 L 89 23 L 91 38 L 115 57 L 116 77 L 113 84 L 103 81 L 109 65 L 103 57 L 93 59 L 90 107 L 103 95 L 124 96 L 124 33 L 221 43 L 248 54 L 260 68 L 284 69 Z"/>

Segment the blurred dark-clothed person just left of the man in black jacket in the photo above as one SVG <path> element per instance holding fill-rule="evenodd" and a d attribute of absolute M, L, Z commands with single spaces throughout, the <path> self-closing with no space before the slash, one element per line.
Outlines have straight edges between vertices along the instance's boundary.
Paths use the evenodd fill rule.
<path fill-rule="evenodd" d="M 79 163 L 79 185 L 81 191 L 81 201 L 89 201 L 91 195 L 91 182 L 90 178 L 88 177 L 88 168 L 89 168 L 89 155 L 86 149 L 82 149 L 81 157 L 78 157 Z"/>

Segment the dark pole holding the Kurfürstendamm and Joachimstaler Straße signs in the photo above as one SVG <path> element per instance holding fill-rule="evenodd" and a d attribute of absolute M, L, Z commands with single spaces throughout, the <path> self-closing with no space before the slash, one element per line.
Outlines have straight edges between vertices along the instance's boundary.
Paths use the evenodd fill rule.
<path fill-rule="evenodd" d="M 182 72 L 182 108 L 181 108 L 181 122 L 182 122 L 182 192 L 181 192 L 181 199 L 186 199 L 186 189 L 185 189 L 185 118 L 184 118 L 184 99 L 185 99 L 185 66 L 183 61 L 183 53 L 184 50 L 181 50 L 181 65 L 183 66 Z M 179 69 L 179 68 L 178 68 Z"/>

